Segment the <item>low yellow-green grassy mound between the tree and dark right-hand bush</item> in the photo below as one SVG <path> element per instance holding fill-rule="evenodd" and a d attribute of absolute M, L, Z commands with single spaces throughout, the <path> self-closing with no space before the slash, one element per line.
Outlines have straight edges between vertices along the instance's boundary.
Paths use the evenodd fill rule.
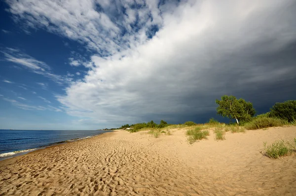
<path fill-rule="evenodd" d="M 283 120 L 280 118 L 262 117 L 262 118 L 254 118 L 251 122 L 246 123 L 245 128 L 248 130 L 261 129 L 261 128 L 267 128 L 267 127 L 273 127 L 273 126 L 283 126 L 287 123 L 288 122 L 286 120 Z"/>

